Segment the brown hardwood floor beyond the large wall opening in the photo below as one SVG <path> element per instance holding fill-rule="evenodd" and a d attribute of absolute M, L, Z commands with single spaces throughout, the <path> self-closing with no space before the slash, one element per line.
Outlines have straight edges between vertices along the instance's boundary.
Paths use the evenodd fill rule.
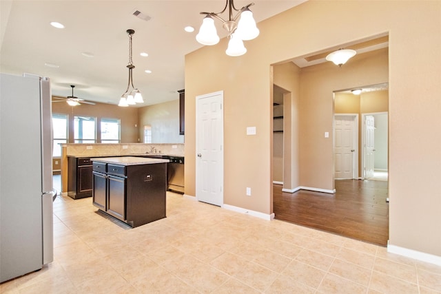
<path fill-rule="evenodd" d="M 336 193 L 282 191 L 273 185 L 276 219 L 382 246 L 389 239 L 387 181 L 336 180 Z"/>

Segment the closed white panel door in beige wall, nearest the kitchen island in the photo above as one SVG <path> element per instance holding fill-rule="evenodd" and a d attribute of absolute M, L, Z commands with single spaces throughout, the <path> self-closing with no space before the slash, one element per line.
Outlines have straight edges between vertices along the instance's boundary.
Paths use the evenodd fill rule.
<path fill-rule="evenodd" d="M 196 200 L 223 204 L 223 92 L 196 97 Z"/>

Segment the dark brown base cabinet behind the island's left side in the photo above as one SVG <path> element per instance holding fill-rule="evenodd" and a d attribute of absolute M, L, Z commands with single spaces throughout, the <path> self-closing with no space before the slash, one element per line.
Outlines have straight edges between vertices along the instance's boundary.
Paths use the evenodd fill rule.
<path fill-rule="evenodd" d="M 90 158 L 68 159 L 68 196 L 73 199 L 92 196 L 92 162 Z"/>

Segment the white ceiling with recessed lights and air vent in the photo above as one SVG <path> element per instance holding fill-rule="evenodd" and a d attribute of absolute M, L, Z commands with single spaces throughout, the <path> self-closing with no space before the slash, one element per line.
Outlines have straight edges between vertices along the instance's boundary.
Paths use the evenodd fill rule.
<path fill-rule="evenodd" d="M 251 10 L 258 22 L 305 1 L 254 0 Z M 234 3 L 241 8 L 250 1 Z M 202 46 L 195 39 L 203 19 L 199 12 L 220 12 L 224 6 L 225 1 L 218 0 L 1 0 L 0 69 L 49 76 L 54 96 L 70 96 L 70 85 L 76 85 L 74 95 L 79 98 L 118 104 L 128 80 L 126 30 L 134 29 L 134 85 L 145 100 L 137 106 L 171 101 L 178 98 L 176 91 L 184 88 L 185 54 Z M 151 19 L 135 17 L 135 10 Z M 227 12 L 222 16 L 227 18 Z M 51 21 L 63 23 L 65 28 L 53 28 Z M 220 21 L 215 23 L 219 36 L 225 37 Z M 186 25 L 195 31 L 185 32 Z M 94 56 L 83 56 L 83 52 Z M 142 57 L 141 52 L 149 56 Z M 152 74 L 145 70 L 152 70 Z"/>

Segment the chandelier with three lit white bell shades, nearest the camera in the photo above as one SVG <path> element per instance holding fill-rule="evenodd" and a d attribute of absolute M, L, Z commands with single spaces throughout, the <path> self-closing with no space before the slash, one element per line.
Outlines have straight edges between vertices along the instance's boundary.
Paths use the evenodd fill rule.
<path fill-rule="evenodd" d="M 226 0 L 225 7 L 221 12 L 201 12 L 205 14 L 199 33 L 196 35 L 196 41 L 203 45 L 216 45 L 219 43 L 219 36 L 214 26 L 214 18 L 223 22 L 223 28 L 228 32 L 228 48 L 225 51 L 229 56 L 240 56 L 247 52 L 243 45 L 243 41 L 252 40 L 259 35 L 259 30 L 256 27 L 256 21 L 253 18 L 253 12 L 249 10 L 250 3 L 243 8 L 236 9 L 233 0 Z M 225 21 L 219 14 L 223 14 L 228 8 L 228 20 Z M 238 12 L 233 17 L 233 12 Z M 240 17 L 240 19 L 239 19 Z M 239 21 L 238 21 L 239 19 Z"/>

